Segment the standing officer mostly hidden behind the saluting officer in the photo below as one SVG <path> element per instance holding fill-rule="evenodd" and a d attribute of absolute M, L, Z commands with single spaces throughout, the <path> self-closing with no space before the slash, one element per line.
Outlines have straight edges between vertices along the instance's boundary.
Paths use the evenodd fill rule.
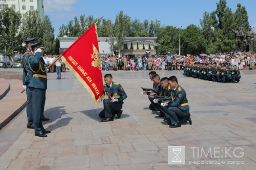
<path fill-rule="evenodd" d="M 34 44 L 36 41 L 36 37 L 32 39 L 22 40 L 26 43 L 27 50 L 23 54 L 22 63 L 23 63 L 23 73 L 22 73 L 22 84 L 24 90 L 26 90 L 27 94 L 27 106 L 26 106 L 26 112 L 27 112 L 27 128 L 34 129 L 33 124 L 33 112 L 32 112 L 32 99 L 31 99 L 31 91 L 30 88 L 28 88 L 28 84 L 30 83 L 30 80 L 32 79 L 32 73 L 31 69 L 28 65 L 28 58 L 31 56 L 30 48 L 29 46 L 31 44 Z"/>

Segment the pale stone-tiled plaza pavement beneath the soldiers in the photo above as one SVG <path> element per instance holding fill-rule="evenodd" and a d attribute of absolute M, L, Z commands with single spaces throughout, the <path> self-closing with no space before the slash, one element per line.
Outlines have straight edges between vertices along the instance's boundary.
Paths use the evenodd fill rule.
<path fill-rule="evenodd" d="M 0 130 L 0 146 L 15 141 L 0 155 L 0 169 L 255 169 L 256 71 L 241 72 L 240 83 L 221 84 L 158 71 L 161 77 L 176 75 L 187 92 L 192 125 L 176 129 L 152 113 L 141 95 L 141 87 L 152 87 L 148 71 L 102 72 L 112 73 L 128 96 L 121 119 L 112 122 L 101 122 L 102 103 L 93 105 L 71 72 L 61 73 L 61 80 L 49 73 L 44 116 L 51 120 L 44 128 L 52 133 L 35 137 L 26 128 L 26 111 L 20 112 Z M 168 146 L 185 146 L 185 165 L 167 164 Z M 202 150 L 211 153 L 200 156 Z"/>

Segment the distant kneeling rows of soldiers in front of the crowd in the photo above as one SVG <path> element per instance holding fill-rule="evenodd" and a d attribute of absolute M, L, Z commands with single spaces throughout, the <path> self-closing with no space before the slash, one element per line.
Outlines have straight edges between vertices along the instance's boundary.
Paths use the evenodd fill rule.
<path fill-rule="evenodd" d="M 216 66 L 214 63 L 197 63 L 193 65 L 186 62 L 186 66 L 183 68 L 184 76 L 190 76 L 192 78 L 197 78 L 201 80 L 208 80 L 217 83 L 239 83 L 241 79 L 240 70 L 236 65 L 228 67 L 225 63 Z"/>

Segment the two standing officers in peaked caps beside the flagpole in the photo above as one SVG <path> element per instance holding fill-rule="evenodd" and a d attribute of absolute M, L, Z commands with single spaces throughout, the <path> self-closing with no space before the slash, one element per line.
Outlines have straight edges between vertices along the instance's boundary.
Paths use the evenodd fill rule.
<path fill-rule="evenodd" d="M 34 129 L 38 137 L 47 137 L 51 133 L 43 128 L 44 104 L 46 103 L 47 65 L 43 59 L 43 41 L 36 42 L 36 37 L 23 40 L 27 50 L 23 55 L 23 88 L 27 94 L 27 128 Z"/>

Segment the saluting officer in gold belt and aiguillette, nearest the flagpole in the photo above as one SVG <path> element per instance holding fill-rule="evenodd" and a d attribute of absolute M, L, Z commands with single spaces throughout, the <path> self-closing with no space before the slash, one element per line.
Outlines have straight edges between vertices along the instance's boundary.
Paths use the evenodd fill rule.
<path fill-rule="evenodd" d="M 32 55 L 28 58 L 28 66 L 31 69 L 32 79 L 28 84 L 28 88 L 31 90 L 35 135 L 47 137 L 46 134 L 51 133 L 51 131 L 44 129 L 42 124 L 47 89 L 47 66 L 41 57 L 43 50 L 39 48 L 42 43 L 43 41 L 39 41 L 30 45 Z"/>

